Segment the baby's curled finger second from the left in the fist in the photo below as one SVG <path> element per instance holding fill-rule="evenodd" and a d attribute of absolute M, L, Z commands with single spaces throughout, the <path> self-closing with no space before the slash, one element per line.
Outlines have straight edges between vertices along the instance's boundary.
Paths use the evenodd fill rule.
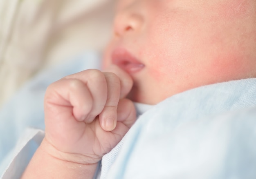
<path fill-rule="evenodd" d="M 66 79 L 81 80 L 92 95 L 92 109 L 88 113 L 85 122 L 92 122 L 103 110 L 108 96 L 108 88 L 105 75 L 96 69 L 85 70 L 65 77 Z"/>

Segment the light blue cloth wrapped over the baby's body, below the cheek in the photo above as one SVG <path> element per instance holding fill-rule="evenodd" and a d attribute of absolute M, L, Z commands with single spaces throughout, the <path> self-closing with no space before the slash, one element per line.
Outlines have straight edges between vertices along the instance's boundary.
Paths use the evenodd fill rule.
<path fill-rule="evenodd" d="M 202 86 L 141 115 L 101 179 L 255 179 L 256 79 Z"/>

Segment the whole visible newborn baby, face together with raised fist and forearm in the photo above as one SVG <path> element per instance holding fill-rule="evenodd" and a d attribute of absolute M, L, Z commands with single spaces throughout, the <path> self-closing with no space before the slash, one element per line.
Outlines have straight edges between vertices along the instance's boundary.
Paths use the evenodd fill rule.
<path fill-rule="evenodd" d="M 45 138 L 23 178 L 92 178 L 136 120 L 192 88 L 256 77 L 255 0 L 119 0 L 103 71 L 45 94 Z"/>

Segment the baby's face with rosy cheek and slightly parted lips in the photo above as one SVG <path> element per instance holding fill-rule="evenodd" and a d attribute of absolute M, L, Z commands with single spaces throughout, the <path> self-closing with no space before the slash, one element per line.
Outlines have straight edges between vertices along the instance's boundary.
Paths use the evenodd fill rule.
<path fill-rule="evenodd" d="M 119 0 L 103 68 L 126 70 L 129 98 L 146 104 L 255 77 L 255 7 L 255 0 Z"/>

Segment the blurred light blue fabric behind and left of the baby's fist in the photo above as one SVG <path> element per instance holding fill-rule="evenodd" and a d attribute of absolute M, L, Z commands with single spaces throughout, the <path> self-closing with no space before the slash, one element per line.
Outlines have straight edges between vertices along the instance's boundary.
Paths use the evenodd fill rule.
<path fill-rule="evenodd" d="M 99 69 L 100 55 L 87 52 L 38 74 L 0 110 L 0 176 L 15 155 L 13 150 L 27 127 L 44 129 L 43 98 L 49 84 L 60 78 L 85 69 Z M 31 142 L 27 146 L 27 161 L 36 150 Z M 21 164 L 25 168 L 26 164 Z M 13 171 L 14 172 L 14 171 Z M 13 179 L 13 178 L 11 178 Z"/>

